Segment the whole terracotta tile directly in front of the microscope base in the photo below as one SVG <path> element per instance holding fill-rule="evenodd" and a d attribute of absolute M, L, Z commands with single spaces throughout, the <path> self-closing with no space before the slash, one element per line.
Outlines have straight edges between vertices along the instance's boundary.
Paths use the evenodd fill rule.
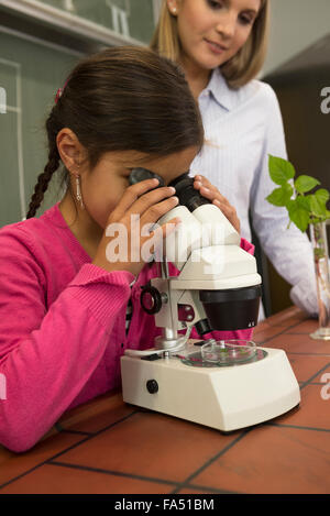
<path fill-rule="evenodd" d="M 58 460 L 183 482 L 238 436 L 157 413 L 139 413 Z M 112 443 L 116 442 L 116 447 Z"/>

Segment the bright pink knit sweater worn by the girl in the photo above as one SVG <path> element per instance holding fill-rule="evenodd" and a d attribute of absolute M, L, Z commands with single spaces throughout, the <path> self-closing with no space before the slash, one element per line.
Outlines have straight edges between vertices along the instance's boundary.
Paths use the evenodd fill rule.
<path fill-rule="evenodd" d="M 241 245 L 253 252 L 246 241 Z M 140 287 L 156 265 L 146 265 L 132 287 L 127 336 L 134 275 L 90 262 L 58 205 L 0 230 L 0 374 L 7 383 L 0 443 L 13 451 L 33 447 L 67 409 L 118 388 L 124 350 L 151 348 L 160 334 L 140 307 Z M 251 330 L 215 337 L 249 339 Z"/>

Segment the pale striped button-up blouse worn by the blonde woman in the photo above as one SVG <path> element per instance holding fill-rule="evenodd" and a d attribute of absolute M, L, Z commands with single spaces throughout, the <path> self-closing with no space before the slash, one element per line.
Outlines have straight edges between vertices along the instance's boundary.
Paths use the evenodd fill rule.
<path fill-rule="evenodd" d="M 293 285 L 292 300 L 309 314 L 317 314 L 309 240 L 294 224 L 287 229 L 288 216 L 284 208 L 265 200 L 276 187 L 268 175 L 268 154 L 287 158 L 274 90 L 260 80 L 233 90 L 216 69 L 199 96 L 199 107 L 206 144 L 193 162 L 191 175 L 206 176 L 235 207 L 241 234 L 246 240 L 251 240 L 251 209 L 253 227 L 264 252 Z"/>

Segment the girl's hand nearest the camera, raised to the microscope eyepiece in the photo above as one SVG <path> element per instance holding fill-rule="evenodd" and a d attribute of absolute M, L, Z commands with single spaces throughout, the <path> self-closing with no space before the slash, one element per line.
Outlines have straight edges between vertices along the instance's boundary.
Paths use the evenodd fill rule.
<path fill-rule="evenodd" d="M 175 218 L 152 230 L 153 224 L 161 217 L 178 205 L 177 197 L 174 197 L 175 188 L 155 189 L 157 185 L 158 179 L 146 179 L 125 189 L 121 200 L 109 216 L 106 231 L 92 261 L 95 265 L 109 272 L 129 271 L 138 275 L 162 240 L 180 222 Z M 131 216 L 134 216 L 133 228 Z M 118 245 L 119 241 L 122 244 L 121 248 L 120 244 Z M 148 250 L 151 250 L 150 253 L 147 253 Z M 109 260 L 111 255 L 119 256 L 119 261 Z"/>

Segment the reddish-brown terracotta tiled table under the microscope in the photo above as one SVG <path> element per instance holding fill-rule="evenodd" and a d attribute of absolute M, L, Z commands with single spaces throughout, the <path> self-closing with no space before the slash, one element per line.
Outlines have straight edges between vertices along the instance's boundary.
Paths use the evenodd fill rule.
<path fill-rule="evenodd" d="M 255 329 L 257 343 L 287 352 L 300 384 L 301 404 L 285 416 L 223 435 L 102 396 L 30 452 L 0 447 L 0 494 L 329 494 L 330 342 L 309 338 L 316 327 L 293 307 Z"/>

